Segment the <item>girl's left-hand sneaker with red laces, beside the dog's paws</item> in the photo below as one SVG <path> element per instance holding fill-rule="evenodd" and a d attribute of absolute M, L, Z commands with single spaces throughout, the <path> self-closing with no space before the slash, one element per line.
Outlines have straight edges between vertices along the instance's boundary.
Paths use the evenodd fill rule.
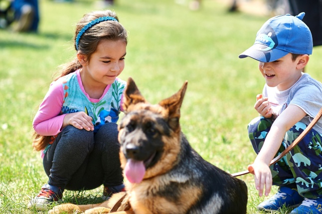
<path fill-rule="evenodd" d="M 63 191 L 60 188 L 45 184 L 41 187 L 40 193 L 28 203 L 28 208 L 46 210 L 53 202 L 61 202 L 62 196 Z"/>

